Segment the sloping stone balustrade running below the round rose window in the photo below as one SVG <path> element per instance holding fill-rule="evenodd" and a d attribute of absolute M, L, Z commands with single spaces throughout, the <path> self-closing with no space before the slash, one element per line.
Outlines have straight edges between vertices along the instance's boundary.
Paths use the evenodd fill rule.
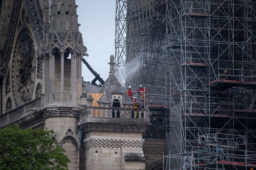
<path fill-rule="evenodd" d="M 41 105 L 41 97 L 27 104 L 24 104 L 23 106 L 20 106 L 10 112 L 0 115 L 0 127 L 3 127 L 6 124 L 19 120 L 22 116 L 28 113 L 29 109 L 40 108 L 40 105 Z"/>

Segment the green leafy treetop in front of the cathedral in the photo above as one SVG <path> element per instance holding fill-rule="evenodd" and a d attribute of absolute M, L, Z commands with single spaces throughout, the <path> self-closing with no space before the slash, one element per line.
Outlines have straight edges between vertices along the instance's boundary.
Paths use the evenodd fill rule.
<path fill-rule="evenodd" d="M 44 129 L 0 129 L 0 169 L 67 169 L 70 160 Z"/>

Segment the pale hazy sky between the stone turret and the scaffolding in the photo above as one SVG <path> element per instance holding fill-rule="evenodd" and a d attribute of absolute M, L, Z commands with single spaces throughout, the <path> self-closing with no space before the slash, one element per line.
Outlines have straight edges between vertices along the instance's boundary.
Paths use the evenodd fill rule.
<path fill-rule="evenodd" d="M 89 57 L 84 59 L 105 81 L 109 72 L 109 57 L 115 55 L 116 0 L 76 0 L 79 31 Z M 84 81 L 95 78 L 82 64 Z M 97 81 L 97 84 L 100 82 Z"/>

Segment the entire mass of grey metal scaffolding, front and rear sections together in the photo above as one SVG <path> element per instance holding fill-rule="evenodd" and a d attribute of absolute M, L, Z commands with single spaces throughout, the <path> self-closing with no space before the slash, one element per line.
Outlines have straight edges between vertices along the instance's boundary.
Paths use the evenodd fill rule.
<path fill-rule="evenodd" d="M 120 2 L 121 79 L 125 85 L 143 84 L 151 94 L 170 95 L 166 168 L 256 167 L 256 2 Z"/>

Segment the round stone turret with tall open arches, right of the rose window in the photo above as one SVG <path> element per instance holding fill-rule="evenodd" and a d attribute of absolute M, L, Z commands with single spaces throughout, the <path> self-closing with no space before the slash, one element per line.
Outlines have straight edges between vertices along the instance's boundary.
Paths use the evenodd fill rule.
<path fill-rule="evenodd" d="M 44 1 L 42 62 L 44 128 L 54 130 L 55 139 L 71 160 L 69 169 L 79 168 L 77 138 L 79 97 L 82 95 L 82 58 L 86 47 L 78 30 L 75 0 Z"/>

